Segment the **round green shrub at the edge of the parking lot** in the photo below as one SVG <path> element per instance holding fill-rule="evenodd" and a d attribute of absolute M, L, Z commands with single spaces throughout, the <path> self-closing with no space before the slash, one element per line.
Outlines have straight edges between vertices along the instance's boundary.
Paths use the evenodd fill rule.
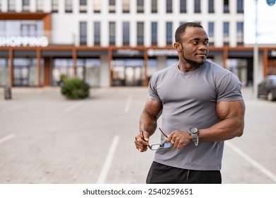
<path fill-rule="evenodd" d="M 89 86 L 79 78 L 64 78 L 62 94 L 68 99 L 82 99 L 89 96 Z"/>

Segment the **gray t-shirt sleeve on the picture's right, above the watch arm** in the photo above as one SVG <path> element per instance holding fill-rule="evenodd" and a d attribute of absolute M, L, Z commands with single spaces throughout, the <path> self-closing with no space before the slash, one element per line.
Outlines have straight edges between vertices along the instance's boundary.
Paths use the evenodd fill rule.
<path fill-rule="evenodd" d="M 233 73 L 224 76 L 217 86 L 217 102 L 225 100 L 243 100 L 241 81 Z"/>

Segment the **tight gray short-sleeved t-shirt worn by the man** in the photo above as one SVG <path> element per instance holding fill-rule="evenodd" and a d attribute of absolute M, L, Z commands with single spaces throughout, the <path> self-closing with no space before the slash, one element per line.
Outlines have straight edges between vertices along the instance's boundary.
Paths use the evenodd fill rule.
<path fill-rule="evenodd" d="M 220 121 L 216 104 L 223 100 L 243 100 L 241 82 L 214 62 L 183 72 L 173 64 L 156 71 L 149 81 L 149 98 L 163 104 L 162 129 L 169 134 L 190 127 L 206 129 Z M 161 136 L 163 142 L 165 137 Z M 154 161 L 190 170 L 220 170 L 224 141 L 200 141 L 183 148 L 156 151 Z"/>

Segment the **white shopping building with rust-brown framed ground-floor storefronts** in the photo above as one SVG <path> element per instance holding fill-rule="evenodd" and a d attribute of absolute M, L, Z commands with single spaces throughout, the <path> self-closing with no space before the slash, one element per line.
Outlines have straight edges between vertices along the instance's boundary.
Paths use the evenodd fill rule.
<path fill-rule="evenodd" d="M 187 21 L 209 35 L 209 59 L 253 83 L 243 0 L 0 0 L 0 87 L 146 86 L 177 61 L 174 32 Z M 276 45 L 260 46 L 258 78 L 276 74 Z"/>

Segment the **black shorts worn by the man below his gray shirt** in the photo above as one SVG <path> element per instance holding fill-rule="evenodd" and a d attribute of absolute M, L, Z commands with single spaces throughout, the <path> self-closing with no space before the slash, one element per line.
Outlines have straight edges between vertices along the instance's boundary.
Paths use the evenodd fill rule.
<path fill-rule="evenodd" d="M 221 184 L 219 170 L 187 170 L 155 161 L 151 164 L 147 184 Z"/>

